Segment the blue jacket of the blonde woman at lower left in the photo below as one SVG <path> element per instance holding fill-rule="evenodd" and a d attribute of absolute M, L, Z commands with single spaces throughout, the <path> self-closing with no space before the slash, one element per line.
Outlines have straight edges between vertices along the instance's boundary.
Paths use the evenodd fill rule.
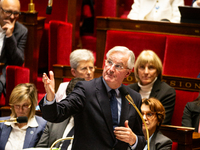
<path fill-rule="evenodd" d="M 46 120 L 44 120 L 42 117 L 39 117 L 39 116 L 35 116 L 35 117 L 39 126 L 36 128 L 35 127 L 27 128 L 23 148 L 35 147 L 45 128 Z M 0 118 L 0 120 L 8 120 L 8 119 L 10 119 L 10 117 Z M 5 149 L 11 130 L 12 130 L 11 126 L 7 126 L 4 123 L 0 123 L 0 143 L 1 143 L 0 150 Z"/>

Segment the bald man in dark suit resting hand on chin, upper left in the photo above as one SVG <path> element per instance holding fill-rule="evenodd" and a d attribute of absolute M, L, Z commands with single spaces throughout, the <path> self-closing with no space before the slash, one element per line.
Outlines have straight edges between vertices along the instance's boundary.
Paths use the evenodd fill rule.
<path fill-rule="evenodd" d="M 21 66 L 24 63 L 24 48 L 27 28 L 17 22 L 20 14 L 19 0 L 1 0 L 0 2 L 0 62 L 4 63 L 0 76 L 0 94 L 6 86 L 6 66 Z"/>

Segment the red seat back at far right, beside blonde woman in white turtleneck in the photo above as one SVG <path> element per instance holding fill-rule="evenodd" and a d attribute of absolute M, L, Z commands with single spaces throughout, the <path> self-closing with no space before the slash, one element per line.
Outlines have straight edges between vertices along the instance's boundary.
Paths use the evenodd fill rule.
<path fill-rule="evenodd" d="M 196 78 L 200 72 L 200 38 L 167 36 L 163 74 Z"/>

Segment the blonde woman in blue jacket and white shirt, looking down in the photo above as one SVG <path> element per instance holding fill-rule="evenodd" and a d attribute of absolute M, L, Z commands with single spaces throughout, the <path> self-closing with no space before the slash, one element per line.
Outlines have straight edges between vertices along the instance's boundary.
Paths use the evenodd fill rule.
<path fill-rule="evenodd" d="M 0 150 L 22 150 L 35 147 L 46 126 L 46 120 L 35 115 L 37 89 L 32 83 L 18 84 L 9 99 L 11 116 L 1 117 L 8 120 L 27 117 L 27 123 L 0 123 Z"/>

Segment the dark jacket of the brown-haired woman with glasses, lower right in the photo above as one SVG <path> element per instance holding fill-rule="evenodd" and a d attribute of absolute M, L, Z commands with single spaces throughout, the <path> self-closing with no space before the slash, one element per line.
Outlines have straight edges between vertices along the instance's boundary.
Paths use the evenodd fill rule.
<path fill-rule="evenodd" d="M 164 136 L 160 131 L 155 131 L 150 142 L 150 150 L 171 150 L 172 140 Z"/>

